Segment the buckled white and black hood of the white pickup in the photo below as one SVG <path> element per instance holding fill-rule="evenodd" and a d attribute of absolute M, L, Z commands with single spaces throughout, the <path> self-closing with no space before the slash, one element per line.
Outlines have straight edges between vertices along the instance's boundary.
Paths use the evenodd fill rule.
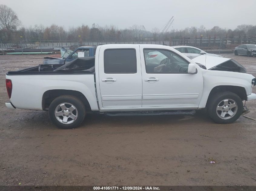
<path fill-rule="evenodd" d="M 195 63 L 204 65 L 207 70 L 220 70 L 229 72 L 246 73 L 244 66 L 231 58 L 201 55 L 192 59 Z"/>

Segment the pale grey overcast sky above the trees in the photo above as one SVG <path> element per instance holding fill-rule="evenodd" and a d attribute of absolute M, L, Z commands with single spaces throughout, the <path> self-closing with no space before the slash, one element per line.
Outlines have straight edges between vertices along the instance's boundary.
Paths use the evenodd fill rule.
<path fill-rule="evenodd" d="M 68 30 L 96 23 L 120 29 L 137 24 L 151 30 L 163 28 L 172 16 L 169 30 L 256 25 L 256 0 L 0 0 L 0 4 L 12 8 L 25 27 L 58 24 Z"/>

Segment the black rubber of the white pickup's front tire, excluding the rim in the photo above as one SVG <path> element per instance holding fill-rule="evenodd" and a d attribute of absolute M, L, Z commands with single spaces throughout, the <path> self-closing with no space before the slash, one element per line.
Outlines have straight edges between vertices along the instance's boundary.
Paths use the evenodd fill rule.
<path fill-rule="evenodd" d="M 234 94 L 233 92 L 229 92 L 229 91 L 219 92 L 209 97 L 209 99 L 210 100 L 208 100 L 207 112 L 208 112 L 208 115 L 211 117 L 211 119 L 216 123 L 223 123 L 223 124 L 233 123 L 241 116 L 243 112 L 243 101 L 237 94 Z M 234 100 L 237 104 L 236 113 L 230 119 L 222 119 L 221 117 L 218 116 L 216 111 L 218 104 L 225 99 Z M 218 111 L 218 112 L 222 112 L 222 111 Z"/>

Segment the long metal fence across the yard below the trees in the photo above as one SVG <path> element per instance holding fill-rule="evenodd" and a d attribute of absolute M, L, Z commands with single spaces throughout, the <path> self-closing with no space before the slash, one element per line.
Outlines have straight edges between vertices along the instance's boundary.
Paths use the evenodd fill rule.
<path fill-rule="evenodd" d="M 240 44 L 256 44 L 256 38 L 189 38 L 189 39 L 169 39 L 164 41 L 154 40 L 98 40 L 98 41 L 81 41 L 81 40 L 65 40 L 65 41 L 2 41 L 0 42 L 1 52 L 17 51 L 25 52 L 27 49 L 38 49 L 38 52 L 59 51 L 61 47 L 76 48 L 78 46 L 98 46 L 102 44 L 165 44 L 167 46 L 195 46 L 203 50 L 220 52 L 221 50 L 233 50 Z"/>

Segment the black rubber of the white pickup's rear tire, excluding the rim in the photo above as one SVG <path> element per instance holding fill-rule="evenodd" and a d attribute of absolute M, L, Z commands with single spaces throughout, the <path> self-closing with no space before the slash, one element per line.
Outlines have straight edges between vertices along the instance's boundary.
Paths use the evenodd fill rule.
<path fill-rule="evenodd" d="M 73 112 L 75 112 L 75 115 L 77 115 L 77 117 L 73 122 L 64 124 L 64 123 L 60 122 L 57 119 L 57 117 L 55 116 L 55 109 L 62 103 L 70 103 L 76 108 Z M 65 104 L 65 105 L 68 107 L 69 104 Z M 77 112 L 77 114 L 76 114 L 76 112 Z M 49 106 L 48 113 L 49 113 L 49 117 L 50 117 L 52 123 L 55 126 L 57 126 L 58 128 L 61 128 L 61 129 L 72 129 L 72 128 L 78 127 L 85 119 L 85 105 L 80 99 L 78 99 L 75 96 L 63 95 L 63 96 L 56 97 L 52 101 L 52 103 Z M 70 112 L 68 112 L 68 113 L 71 114 Z M 61 117 L 62 116 L 60 116 L 60 118 Z M 69 120 L 69 122 L 72 121 L 71 118 L 69 118 L 68 120 Z"/>

